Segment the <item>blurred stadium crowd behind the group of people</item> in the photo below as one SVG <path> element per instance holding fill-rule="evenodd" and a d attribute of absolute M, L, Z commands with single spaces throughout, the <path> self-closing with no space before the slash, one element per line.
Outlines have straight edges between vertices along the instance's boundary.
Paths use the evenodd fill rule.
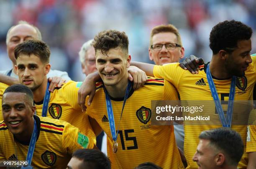
<path fill-rule="evenodd" d="M 8 29 L 26 20 L 41 30 L 51 48 L 53 69 L 82 81 L 78 52 L 101 30 L 125 31 L 133 61 L 148 59 L 151 28 L 172 23 L 181 34 L 185 56 L 210 61 L 209 35 L 224 20 L 239 20 L 256 30 L 256 0 L 0 0 L 0 70 L 11 67 L 6 53 Z M 256 33 L 252 38 L 252 52 Z"/>

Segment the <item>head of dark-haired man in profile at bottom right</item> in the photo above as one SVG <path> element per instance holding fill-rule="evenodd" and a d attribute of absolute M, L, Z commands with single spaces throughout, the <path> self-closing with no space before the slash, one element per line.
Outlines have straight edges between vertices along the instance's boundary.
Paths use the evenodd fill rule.
<path fill-rule="evenodd" d="M 244 146 L 236 131 L 228 128 L 202 131 L 199 139 L 193 161 L 200 169 L 237 169 Z"/>

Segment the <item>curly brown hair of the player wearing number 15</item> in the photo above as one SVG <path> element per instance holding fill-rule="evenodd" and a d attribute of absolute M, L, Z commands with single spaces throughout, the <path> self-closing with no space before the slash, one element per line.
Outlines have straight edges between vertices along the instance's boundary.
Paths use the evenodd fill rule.
<path fill-rule="evenodd" d="M 95 52 L 99 49 L 102 54 L 106 54 L 108 50 L 117 47 L 126 50 L 128 53 L 129 40 L 125 32 L 103 30 L 95 35 L 92 45 L 95 48 Z"/>

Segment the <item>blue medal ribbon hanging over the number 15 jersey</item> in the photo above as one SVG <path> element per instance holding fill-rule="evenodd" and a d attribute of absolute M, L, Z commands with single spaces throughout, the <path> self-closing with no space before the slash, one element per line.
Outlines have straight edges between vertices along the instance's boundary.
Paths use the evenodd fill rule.
<path fill-rule="evenodd" d="M 129 91 L 131 89 L 131 84 L 132 84 L 132 82 L 128 81 L 128 85 L 127 85 L 127 88 L 126 88 L 126 91 L 125 91 L 125 96 L 124 96 L 124 99 L 123 99 L 123 108 L 124 108 L 125 102 L 128 98 Z M 115 132 L 115 119 L 114 119 L 112 104 L 111 104 L 110 97 L 108 95 L 108 91 L 105 89 L 105 87 L 104 87 L 104 91 L 105 91 L 105 97 L 106 97 L 106 105 L 107 105 L 107 111 L 108 111 L 110 131 L 111 131 L 111 134 L 112 134 L 113 141 L 116 142 L 116 140 L 118 138 L 118 131 Z M 122 114 L 123 114 L 123 108 L 122 108 L 122 111 L 121 111 L 120 121 L 121 121 Z M 120 121 L 119 121 L 119 124 L 118 124 L 118 129 L 119 129 L 119 126 L 120 126 Z"/>

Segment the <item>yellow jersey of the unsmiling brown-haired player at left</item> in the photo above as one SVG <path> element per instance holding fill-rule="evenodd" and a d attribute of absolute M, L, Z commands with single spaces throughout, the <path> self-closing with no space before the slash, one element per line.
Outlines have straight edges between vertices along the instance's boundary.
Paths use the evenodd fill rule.
<path fill-rule="evenodd" d="M 77 103 L 78 90 L 81 82 L 69 81 L 64 83 L 60 88 L 55 88 L 50 95 L 47 117 L 53 119 L 64 120 L 81 130 L 82 133 L 87 133 L 88 136 L 96 137 L 92 131 L 88 115 L 82 112 L 81 107 Z M 43 110 L 43 101 L 36 103 L 36 115 L 41 116 Z"/>

